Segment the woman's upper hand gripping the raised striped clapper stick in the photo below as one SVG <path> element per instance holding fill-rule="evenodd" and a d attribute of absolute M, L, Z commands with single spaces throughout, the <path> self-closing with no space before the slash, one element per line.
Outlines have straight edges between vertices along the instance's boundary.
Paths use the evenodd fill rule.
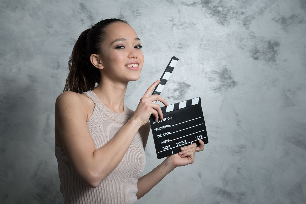
<path fill-rule="evenodd" d="M 151 114 L 155 116 L 155 122 L 157 122 L 158 118 L 163 119 L 162 110 L 160 109 L 160 106 L 152 102 L 158 100 L 162 102 L 165 106 L 168 106 L 168 103 L 165 99 L 163 99 L 157 94 L 150 96 L 151 92 L 159 84 L 159 81 L 160 80 L 157 80 L 147 89 L 144 96 L 140 98 L 140 102 L 135 110 L 135 113 L 131 117 L 131 119 L 138 121 L 141 125 L 147 123 Z"/>

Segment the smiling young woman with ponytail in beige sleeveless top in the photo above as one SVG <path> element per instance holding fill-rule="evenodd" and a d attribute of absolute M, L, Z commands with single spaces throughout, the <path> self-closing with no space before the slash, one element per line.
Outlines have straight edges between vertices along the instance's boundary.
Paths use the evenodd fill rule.
<path fill-rule="evenodd" d="M 144 171 L 151 114 L 163 119 L 165 99 L 147 89 L 135 110 L 123 102 L 144 63 L 140 39 L 124 20 L 101 20 L 81 33 L 55 104 L 55 155 L 65 203 L 135 203 L 177 166 L 192 164 L 204 143 L 181 148 Z M 158 116 L 159 115 L 159 116 Z"/>

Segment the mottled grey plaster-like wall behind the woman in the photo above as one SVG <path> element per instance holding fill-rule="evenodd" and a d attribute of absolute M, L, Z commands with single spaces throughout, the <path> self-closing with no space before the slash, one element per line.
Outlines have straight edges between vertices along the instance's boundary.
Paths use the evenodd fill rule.
<path fill-rule="evenodd" d="M 54 103 L 80 33 L 119 17 L 145 55 L 135 109 L 172 56 L 162 97 L 201 97 L 209 143 L 137 203 L 306 202 L 306 1 L 1 0 L 0 202 L 61 203 Z M 145 150 L 156 158 L 152 135 Z"/>

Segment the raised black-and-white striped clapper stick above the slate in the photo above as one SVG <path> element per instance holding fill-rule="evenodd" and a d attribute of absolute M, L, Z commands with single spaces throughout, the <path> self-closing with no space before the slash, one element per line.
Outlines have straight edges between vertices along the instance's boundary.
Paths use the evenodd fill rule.
<path fill-rule="evenodd" d="M 162 74 L 162 77 L 160 78 L 159 84 L 155 87 L 151 95 L 160 95 L 162 93 L 162 89 L 165 87 L 173 69 L 175 68 L 175 65 L 177 64 L 178 59 L 176 57 L 172 57 L 169 64 L 167 65 L 164 73 Z M 156 103 L 156 101 L 153 101 L 152 103 Z"/>

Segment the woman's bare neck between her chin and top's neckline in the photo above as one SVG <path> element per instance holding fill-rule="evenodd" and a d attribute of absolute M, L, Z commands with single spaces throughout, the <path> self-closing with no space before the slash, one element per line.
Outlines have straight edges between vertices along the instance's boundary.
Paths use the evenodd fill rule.
<path fill-rule="evenodd" d="M 93 90 L 101 102 L 114 113 L 122 113 L 124 109 L 124 96 L 128 82 L 114 82 L 110 79 L 101 79 L 99 85 Z"/>

